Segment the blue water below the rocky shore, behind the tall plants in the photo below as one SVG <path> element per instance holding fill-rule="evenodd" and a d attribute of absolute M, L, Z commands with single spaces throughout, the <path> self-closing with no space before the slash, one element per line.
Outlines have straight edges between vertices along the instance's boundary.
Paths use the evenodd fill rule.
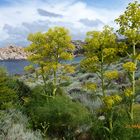
<path fill-rule="evenodd" d="M 67 63 L 79 63 L 83 57 L 75 57 Z M 0 61 L 0 67 L 5 67 L 10 75 L 24 74 L 24 67 L 30 63 L 27 60 L 6 60 Z"/>

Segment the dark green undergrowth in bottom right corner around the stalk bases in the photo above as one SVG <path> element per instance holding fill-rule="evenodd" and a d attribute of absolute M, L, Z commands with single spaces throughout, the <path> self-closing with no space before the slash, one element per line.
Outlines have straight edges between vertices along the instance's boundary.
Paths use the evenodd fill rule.
<path fill-rule="evenodd" d="M 139 115 L 138 105 L 135 106 L 135 115 Z M 135 118 L 132 123 L 123 106 L 118 106 L 113 114 L 113 131 L 110 133 L 105 127 L 108 125 L 104 114 L 101 116 L 95 115 L 93 117 L 93 125 L 90 128 L 90 133 L 93 140 L 138 140 L 140 138 L 139 117 Z M 104 119 L 101 119 L 104 118 Z M 137 125 L 138 124 L 138 125 Z"/>

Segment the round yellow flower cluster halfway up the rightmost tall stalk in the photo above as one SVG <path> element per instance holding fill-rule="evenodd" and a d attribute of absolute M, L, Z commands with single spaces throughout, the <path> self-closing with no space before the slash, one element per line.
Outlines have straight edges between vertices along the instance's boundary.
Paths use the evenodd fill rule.
<path fill-rule="evenodd" d="M 137 69 L 136 64 L 133 62 L 126 62 L 125 64 L 123 64 L 123 68 L 129 72 L 134 72 Z"/>

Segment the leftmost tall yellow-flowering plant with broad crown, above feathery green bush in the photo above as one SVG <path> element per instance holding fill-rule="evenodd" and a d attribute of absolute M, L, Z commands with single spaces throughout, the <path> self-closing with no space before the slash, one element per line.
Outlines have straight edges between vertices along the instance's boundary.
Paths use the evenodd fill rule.
<path fill-rule="evenodd" d="M 71 43 L 69 31 L 63 27 L 54 27 L 46 33 L 30 34 L 28 40 L 32 42 L 26 48 L 30 53 L 28 60 L 37 64 L 38 73 L 42 75 L 45 87 L 48 76 L 53 76 L 54 90 L 52 95 L 55 95 L 58 84 L 57 71 L 62 67 L 63 71 L 65 69 L 72 71 L 73 69 L 72 66 L 61 63 L 73 58 L 74 46 Z M 31 69 L 33 66 L 30 66 Z"/>

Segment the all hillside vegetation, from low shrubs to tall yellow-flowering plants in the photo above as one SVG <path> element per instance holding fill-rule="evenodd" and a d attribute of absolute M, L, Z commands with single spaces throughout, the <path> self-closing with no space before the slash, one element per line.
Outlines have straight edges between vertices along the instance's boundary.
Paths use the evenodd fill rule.
<path fill-rule="evenodd" d="M 1 140 L 140 139 L 140 3 L 115 22 L 87 33 L 76 64 L 64 27 L 29 34 L 26 74 L 0 68 Z"/>

